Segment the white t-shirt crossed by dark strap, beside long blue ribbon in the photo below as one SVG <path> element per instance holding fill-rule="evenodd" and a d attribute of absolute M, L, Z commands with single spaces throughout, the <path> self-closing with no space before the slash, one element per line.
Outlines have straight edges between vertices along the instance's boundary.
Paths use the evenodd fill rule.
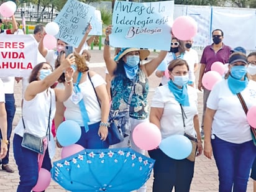
<path fill-rule="evenodd" d="M 99 85 L 106 85 L 104 79 L 98 74 L 92 76 L 91 81 L 93 82 L 94 88 Z M 86 81 L 78 85 L 81 93 L 83 94 L 83 101 L 89 116 L 90 121 L 88 122 L 88 125 L 101 121 L 101 107 L 99 107 L 99 103 L 96 94 L 94 93 L 93 85 L 91 85 L 91 81 L 87 76 Z M 74 94 L 75 92 L 73 91 L 73 94 L 70 96 L 70 98 L 64 102 L 64 106 L 66 107 L 64 116 L 66 120 L 73 120 L 76 121 L 80 126 L 84 126 L 79 104 L 75 104 L 72 101 Z"/>

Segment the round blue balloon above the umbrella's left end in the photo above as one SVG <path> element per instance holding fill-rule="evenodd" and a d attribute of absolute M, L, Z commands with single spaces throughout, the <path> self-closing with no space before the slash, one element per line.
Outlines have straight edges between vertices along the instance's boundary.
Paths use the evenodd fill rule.
<path fill-rule="evenodd" d="M 63 121 L 60 126 L 58 126 L 56 137 L 63 147 L 73 145 L 81 137 L 81 127 L 75 121 Z"/>

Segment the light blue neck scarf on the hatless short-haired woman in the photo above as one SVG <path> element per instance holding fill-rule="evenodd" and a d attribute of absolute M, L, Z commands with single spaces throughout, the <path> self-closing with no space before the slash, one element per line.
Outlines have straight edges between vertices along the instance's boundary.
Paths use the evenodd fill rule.
<path fill-rule="evenodd" d="M 173 81 L 168 81 L 168 88 L 171 93 L 173 93 L 176 101 L 183 106 L 190 106 L 190 101 L 188 100 L 188 85 L 183 85 L 181 89 L 179 89 Z"/>

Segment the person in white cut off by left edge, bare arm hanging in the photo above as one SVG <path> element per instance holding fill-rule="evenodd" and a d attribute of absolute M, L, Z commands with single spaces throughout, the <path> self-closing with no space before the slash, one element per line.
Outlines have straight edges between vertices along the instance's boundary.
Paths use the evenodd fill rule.
<path fill-rule="evenodd" d="M 0 90 L 4 90 L 4 83 L 0 79 Z M 1 149 L 0 149 L 0 160 L 6 157 L 7 154 L 7 145 L 9 141 L 7 140 L 7 114 L 6 107 L 4 105 L 5 97 L 4 91 L 0 91 L 0 130 L 1 130 Z"/>

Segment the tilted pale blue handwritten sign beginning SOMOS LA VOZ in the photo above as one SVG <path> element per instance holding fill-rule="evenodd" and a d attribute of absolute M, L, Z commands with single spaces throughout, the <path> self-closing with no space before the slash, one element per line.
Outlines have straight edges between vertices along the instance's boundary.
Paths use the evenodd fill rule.
<path fill-rule="evenodd" d="M 60 27 L 56 38 L 78 47 L 94 16 L 94 11 L 93 6 L 68 0 L 54 21 Z"/>

